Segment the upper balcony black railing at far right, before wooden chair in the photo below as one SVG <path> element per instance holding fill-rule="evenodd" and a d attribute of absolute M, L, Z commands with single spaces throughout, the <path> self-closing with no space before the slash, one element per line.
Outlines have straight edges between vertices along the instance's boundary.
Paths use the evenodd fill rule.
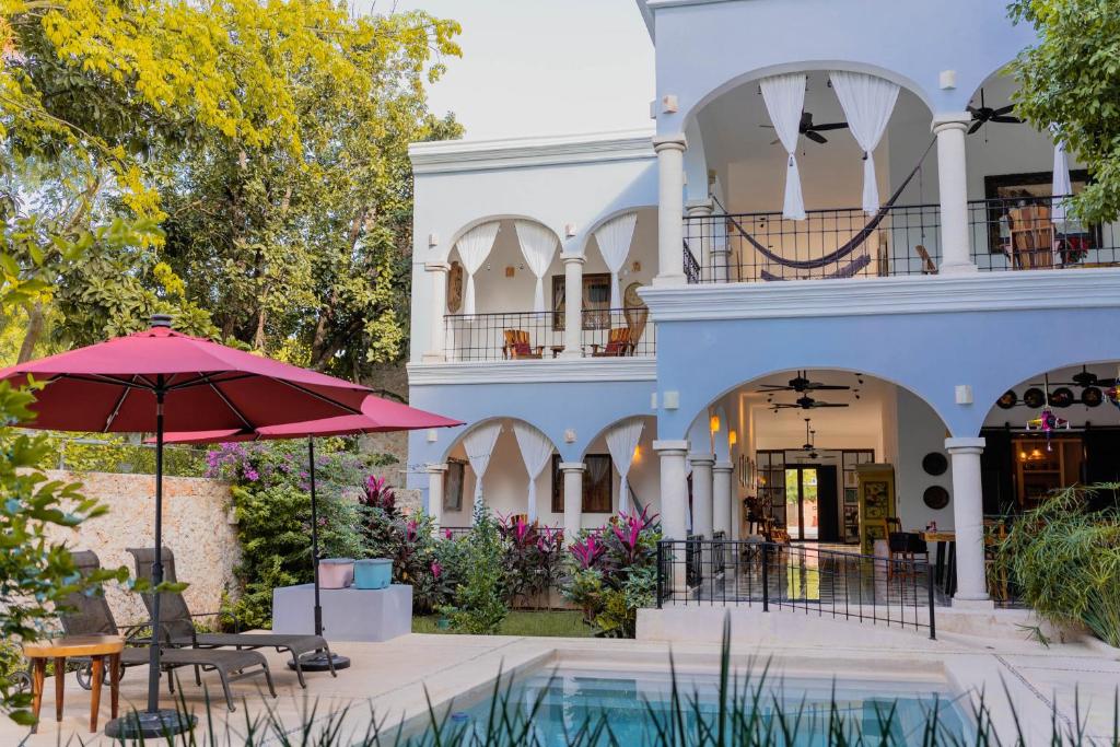
<path fill-rule="evenodd" d="M 1053 270 L 1120 265 L 1117 225 L 1055 220 L 1064 197 L 969 202 L 972 260 L 980 270 Z"/>

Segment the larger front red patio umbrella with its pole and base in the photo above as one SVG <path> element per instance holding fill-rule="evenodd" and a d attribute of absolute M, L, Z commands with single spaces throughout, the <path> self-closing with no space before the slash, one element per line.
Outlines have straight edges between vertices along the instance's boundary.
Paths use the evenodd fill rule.
<path fill-rule="evenodd" d="M 253 429 L 361 412 L 368 389 L 312 371 L 171 330 L 156 315 L 146 332 L 0 370 L 0 381 L 46 382 L 31 408 L 30 428 L 156 433 L 156 561 L 160 562 L 164 433 L 172 430 Z M 194 717 L 159 709 L 159 597 L 152 595 L 148 708 L 114 719 L 106 734 L 132 738 L 178 734 Z"/>

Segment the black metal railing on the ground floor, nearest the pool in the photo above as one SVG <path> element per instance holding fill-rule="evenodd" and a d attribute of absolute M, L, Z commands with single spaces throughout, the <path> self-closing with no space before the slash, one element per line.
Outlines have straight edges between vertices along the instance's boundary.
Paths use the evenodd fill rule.
<path fill-rule="evenodd" d="M 690 538 L 657 543 L 657 607 L 747 606 L 936 637 L 928 563 L 812 545 Z"/>

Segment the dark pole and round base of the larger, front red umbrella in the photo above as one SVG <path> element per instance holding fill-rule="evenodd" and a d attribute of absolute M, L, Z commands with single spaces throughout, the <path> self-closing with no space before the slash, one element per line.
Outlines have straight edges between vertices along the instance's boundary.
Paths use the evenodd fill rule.
<path fill-rule="evenodd" d="M 159 708 L 159 597 L 156 591 L 164 582 L 164 377 L 156 380 L 156 553 L 151 563 L 151 645 L 148 647 L 148 709 L 115 718 L 105 725 L 105 736 L 125 739 L 183 734 L 194 728 L 194 716 L 174 708 Z M 167 676 L 172 676 L 171 672 Z"/>

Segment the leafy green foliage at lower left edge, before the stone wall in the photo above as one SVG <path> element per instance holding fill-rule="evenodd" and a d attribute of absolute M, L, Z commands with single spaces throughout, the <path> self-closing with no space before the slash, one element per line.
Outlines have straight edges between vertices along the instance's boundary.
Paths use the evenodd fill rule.
<path fill-rule="evenodd" d="M 2 290 L 2 287 L 0 287 Z M 40 637 L 67 595 L 104 580 L 128 578 L 124 569 L 84 580 L 58 529 L 74 529 L 106 508 L 81 494 L 77 483 L 47 479 L 38 469 L 50 450 L 45 436 L 17 431 L 12 423 L 31 417 L 29 391 L 0 382 L 0 641 L 11 644 Z M 19 667 L 19 651 L 0 646 L 0 672 Z M 0 710 L 30 723 L 30 697 L 0 679 Z"/>

